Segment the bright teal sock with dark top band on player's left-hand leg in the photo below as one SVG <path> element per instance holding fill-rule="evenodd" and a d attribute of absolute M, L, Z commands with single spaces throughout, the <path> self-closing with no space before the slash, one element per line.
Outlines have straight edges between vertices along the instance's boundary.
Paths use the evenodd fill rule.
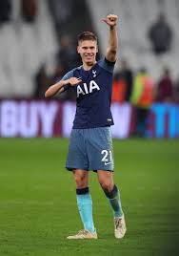
<path fill-rule="evenodd" d="M 95 232 L 92 218 L 92 200 L 89 194 L 89 187 L 76 189 L 76 198 L 84 228 L 90 232 Z"/>

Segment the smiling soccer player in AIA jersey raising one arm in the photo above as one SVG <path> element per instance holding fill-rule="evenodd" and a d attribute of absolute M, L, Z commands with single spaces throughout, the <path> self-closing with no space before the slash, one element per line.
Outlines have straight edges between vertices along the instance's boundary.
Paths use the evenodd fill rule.
<path fill-rule="evenodd" d="M 126 233 L 120 193 L 113 181 L 110 131 L 110 125 L 113 124 L 110 112 L 112 73 L 118 48 L 117 20 L 114 14 L 103 19 L 109 26 L 109 46 L 105 58 L 99 61 L 96 61 L 96 36 L 92 32 L 79 34 L 77 52 L 81 55 L 82 66 L 71 70 L 59 82 L 51 85 L 45 95 L 55 96 L 69 89 L 76 92 L 76 114 L 66 167 L 74 176 L 77 205 L 84 229 L 68 239 L 97 239 L 89 193 L 89 170 L 97 172 L 98 181 L 111 205 L 115 238 L 123 238 Z"/>

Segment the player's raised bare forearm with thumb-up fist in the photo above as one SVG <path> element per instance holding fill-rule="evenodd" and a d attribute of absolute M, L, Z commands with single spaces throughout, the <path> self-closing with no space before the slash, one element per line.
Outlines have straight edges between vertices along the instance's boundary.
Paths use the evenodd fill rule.
<path fill-rule="evenodd" d="M 109 46 L 107 48 L 106 58 L 110 62 L 116 61 L 117 58 L 117 50 L 118 50 L 118 36 L 117 36 L 117 20 L 118 16 L 114 14 L 109 14 L 105 19 L 109 25 Z"/>

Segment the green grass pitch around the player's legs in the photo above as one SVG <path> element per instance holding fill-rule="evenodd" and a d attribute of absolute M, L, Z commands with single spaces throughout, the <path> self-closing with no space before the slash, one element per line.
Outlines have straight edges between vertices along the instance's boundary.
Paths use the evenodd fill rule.
<path fill-rule="evenodd" d="M 0 139 L 0 256 L 179 255 L 179 140 L 115 140 L 115 181 L 128 233 L 113 237 L 109 203 L 90 175 L 99 239 L 68 241 L 82 228 L 68 139 Z"/>

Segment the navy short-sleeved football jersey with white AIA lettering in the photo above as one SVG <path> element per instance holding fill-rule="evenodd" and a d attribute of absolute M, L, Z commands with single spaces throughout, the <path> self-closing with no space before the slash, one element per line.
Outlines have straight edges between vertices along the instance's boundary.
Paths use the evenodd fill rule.
<path fill-rule="evenodd" d="M 110 112 L 112 75 L 115 62 L 99 60 L 89 70 L 83 66 L 71 70 L 62 79 L 81 77 L 82 82 L 70 86 L 76 92 L 76 114 L 73 129 L 95 128 L 113 125 Z"/>

